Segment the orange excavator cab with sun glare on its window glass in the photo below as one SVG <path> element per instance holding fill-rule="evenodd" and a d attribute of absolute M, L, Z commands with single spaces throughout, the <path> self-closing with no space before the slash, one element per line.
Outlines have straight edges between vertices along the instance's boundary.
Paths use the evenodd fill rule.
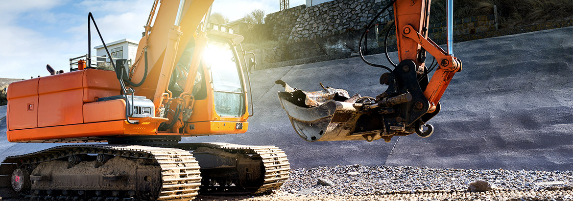
<path fill-rule="evenodd" d="M 207 31 L 207 37 L 193 89 L 195 109 L 186 122 L 185 135 L 244 133 L 250 85 L 240 46 L 244 38 L 217 29 Z"/>

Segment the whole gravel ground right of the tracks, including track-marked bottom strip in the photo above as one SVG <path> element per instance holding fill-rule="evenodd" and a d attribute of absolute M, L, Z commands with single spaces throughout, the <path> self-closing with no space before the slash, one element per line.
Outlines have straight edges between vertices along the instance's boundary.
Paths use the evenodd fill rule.
<path fill-rule="evenodd" d="M 468 186 L 476 180 L 489 182 L 494 190 L 468 192 Z M 299 168 L 291 170 L 288 182 L 270 194 L 198 196 L 195 200 L 573 200 L 573 171 L 359 164 Z"/>

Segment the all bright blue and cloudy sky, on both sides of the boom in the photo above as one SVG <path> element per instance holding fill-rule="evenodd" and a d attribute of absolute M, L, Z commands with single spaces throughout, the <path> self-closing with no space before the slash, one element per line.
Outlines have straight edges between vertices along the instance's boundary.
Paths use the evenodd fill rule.
<path fill-rule="evenodd" d="M 176 0 L 163 0 L 176 1 Z M 278 11 L 278 0 L 215 0 L 213 12 L 230 21 L 254 9 Z M 48 75 L 46 64 L 69 70 L 69 58 L 87 54 L 87 15 L 92 12 L 106 42 L 139 41 L 152 0 L 17 0 L 0 6 L 0 78 Z M 305 0 L 291 0 L 291 7 Z M 92 31 L 92 46 L 101 45 Z M 92 50 L 93 51 L 93 50 Z"/>

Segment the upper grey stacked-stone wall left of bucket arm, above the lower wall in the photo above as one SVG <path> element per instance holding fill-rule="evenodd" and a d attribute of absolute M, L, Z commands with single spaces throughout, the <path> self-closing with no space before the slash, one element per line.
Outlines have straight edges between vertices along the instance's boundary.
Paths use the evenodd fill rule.
<path fill-rule="evenodd" d="M 292 7 L 266 15 L 272 37 L 283 43 L 342 34 L 363 29 L 389 3 L 388 0 L 335 0 L 319 5 Z M 394 19 L 390 8 L 375 23 L 385 24 Z"/>

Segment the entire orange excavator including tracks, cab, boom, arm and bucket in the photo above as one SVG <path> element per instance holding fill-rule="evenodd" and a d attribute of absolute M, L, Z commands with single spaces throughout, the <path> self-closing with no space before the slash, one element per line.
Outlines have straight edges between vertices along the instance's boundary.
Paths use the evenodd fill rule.
<path fill-rule="evenodd" d="M 256 62 L 242 50 L 241 35 L 207 23 L 212 3 L 156 0 L 132 65 L 112 59 L 90 13 L 86 62 L 68 73 L 48 66 L 49 76 L 12 83 L 10 142 L 74 144 L 7 157 L 0 164 L 0 195 L 191 200 L 199 192 L 256 194 L 280 187 L 290 166 L 277 147 L 179 143 L 185 136 L 244 133 L 252 114 L 248 72 Z M 307 93 L 282 83 L 287 91 L 280 93 L 282 106 L 305 139 L 428 133 L 418 128 L 439 111 L 439 98 L 461 62 L 427 38 L 429 0 L 394 0 L 382 12 L 392 5 L 401 62 L 380 78 L 386 92 L 376 98 L 346 93 L 344 99 L 343 90 Z M 92 22 L 111 71 L 92 65 Z M 426 51 L 439 61 L 429 82 Z"/>

